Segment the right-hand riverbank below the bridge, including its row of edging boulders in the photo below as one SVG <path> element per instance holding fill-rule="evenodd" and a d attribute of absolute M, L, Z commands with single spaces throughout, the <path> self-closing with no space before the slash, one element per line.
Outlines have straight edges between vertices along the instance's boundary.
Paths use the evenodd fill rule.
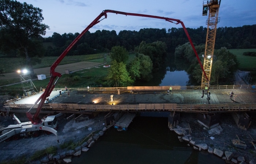
<path fill-rule="evenodd" d="M 256 115 L 253 114 L 253 116 Z M 214 153 L 216 149 L 217 156 L 225 160 L 226 163 L 241 163 L 242 159 L 244 163 L 256 164 L 256 150 L 251 144 L 251 141 L 256 139 L 255 120 L 252 119 L 248 130 L 243 130 L 238 128 L 231 114 L 222 113 L 219 125 L 207 129 L 195 118 L 193 113 L 181 114 L 178 128 L 186 129 L 190 127 L 192 133 L 189 133 L 189 130 L 176 130 L 176 133 L 180 134 L 180 141 L 188 142 L 188 146 L 198 151 L 207 151 L 214 155 L 217 155 L 217 153 Z M 237 140 L 237 136 L 245 142 L 246 149 L 236 148 L 232 144 L 231 140 Z M 229 155 L 226 155 L 226 153 Z"/>

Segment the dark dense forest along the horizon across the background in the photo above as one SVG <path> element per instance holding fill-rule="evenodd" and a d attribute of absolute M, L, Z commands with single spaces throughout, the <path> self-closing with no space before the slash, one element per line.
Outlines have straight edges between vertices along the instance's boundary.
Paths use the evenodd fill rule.
<path fill-rule="evenodd" d="M 205 44 L 207 28 L 202 26 L 197 29 L 187 28 L 195 45 Z M 65 48 L 79 35 L 79 33 L 54 34 L 49 38 L 41 38 L 45 43 L 45 56 L 59 56 Z M 226 47 L 256 48 L 256 25 L 242 27 L 219 27 L 217 29 L 215 49 Z M 99 52 L 109 52 L 113 46 L 123 46 L 128 51 L 133 51 L 136 46 L 144 41 L 152 43 L 162 41 L 166 43 L 167 52 L 174 52 L 178 45 L 188 42 L 183 28 L 144 28 L 140 31 L 123 30 L 117 35 L 116 31 L 98 30 L 94 33 L 87 32 L 72 48 L 68 55 L 85 55 Z M 47 44 L 48 43 L 48 44 Z M 51 43 L 51 44 L 49 44 Z"/>

